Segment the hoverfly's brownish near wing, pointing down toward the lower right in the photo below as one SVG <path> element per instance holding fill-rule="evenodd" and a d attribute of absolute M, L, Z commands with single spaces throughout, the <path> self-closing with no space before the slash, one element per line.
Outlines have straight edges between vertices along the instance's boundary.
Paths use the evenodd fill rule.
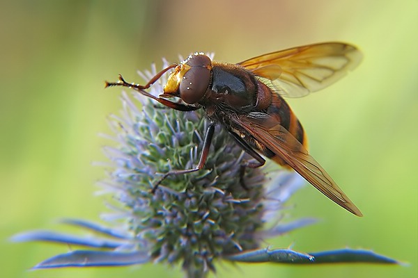
<path fill-rule="evenodd" d="M 362 216 L 355 204 L 348 199 L 330 175 L 309 155 L 307 149 L 291 133 L 267 114 L 264 114 L 263 117 L 253 117 L 251 114 L 234 117 L 233 120 L 262 145 L 282 158 L 325 196 L 351 213 Z"/>

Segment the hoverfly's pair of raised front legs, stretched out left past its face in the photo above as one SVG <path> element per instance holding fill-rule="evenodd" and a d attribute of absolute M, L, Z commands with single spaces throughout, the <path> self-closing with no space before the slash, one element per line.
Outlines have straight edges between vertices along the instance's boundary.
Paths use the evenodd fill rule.
<path fill-rule="evenodd" d="M 146 97 L 150 97 L 151 99 L 154 99 L 155 101 L 160 102 L 160 104 L 163 104 L 164 106 L 167 106 L 169 108 L 173 108 L 173 109 L 178 110 L 178 111 L 194 111 L 194 110 L 199 109 L 200 108 L 199 106 L 189 106 L 189 105 L 185 105 L 185 104 L 178 104 L 176 102 L 169 101 L 167 99 L 162 99 L 161 97 L 155 97 L 154 95 L 151 95 L 149 92 L 146 92 L 144 90 L 144 89 L 150 88 L 150 85 L 155 83 L 155 81 L 157 81 L 162 76 L 162 74 L 167 72 L 167 70 L 169 70 L 169 69 L 171 69 L 171 67 L 167 67 L 164 70 L 162 70 L 162 72 L 159 72 L 148 83 L 146 83 L 146 85 L 139 85 L 139 84 L 135 84 L 135 83 L 127 83 L 125 81 L 125 79 L 123 79 L 121 74 L 119 74 L 119 81 L 118 82 L 109 83 L 109 82 L 106 81 L 106 83 L 104 85 L 104 88 L 111 87 L 111 86 L 123 86 L 123 87 L 127 87 L 127 88 L 134 88 L 141 95 L 144 95 Z"/>

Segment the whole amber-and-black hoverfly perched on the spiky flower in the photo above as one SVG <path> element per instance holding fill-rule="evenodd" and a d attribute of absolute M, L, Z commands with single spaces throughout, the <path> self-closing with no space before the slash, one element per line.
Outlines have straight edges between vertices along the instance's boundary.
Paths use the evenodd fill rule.
<path fill-rule="evenodd" d="M 203 108 L 210 125 L 206 131 L 198 165 L 164 175 L 186 174 L 203 168 L 208 157 L 215 124 L 221 124 L 254 161 L 241 167 L 260 167 L 265 159 L 293 168 L 321 193 L 351 213 L 362 216 L 327 172 L 307 151 L 307 136 L 302 124 L 283 97 L 303 97 L 340 79 L 353 70 L 362 54 L 352 45 L 325 42 L 294 47 L 245 60 L 238 64 L 218 63 L 202 53 L 189 56 L 180 65 L 174 64 L 156 74 L 146 85 L 127 83 L 119 76 L 109 86 L 134 88 L 140 94 L 155 99 L 178 111 Z M 146 89 L 167 71 L 169 76 L 159 97 Z M 169 101 L 178 97 L 183 103 Z M 243 186 L 245 183 L 242 183 Z"/>

